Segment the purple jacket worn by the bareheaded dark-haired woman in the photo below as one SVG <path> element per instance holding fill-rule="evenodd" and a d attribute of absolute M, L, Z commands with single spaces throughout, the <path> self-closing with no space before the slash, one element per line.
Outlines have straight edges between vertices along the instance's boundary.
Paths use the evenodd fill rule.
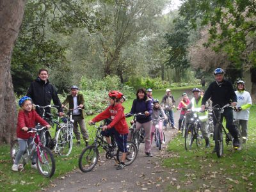
<path fill-rule="evenodd" d="M 148 111 L 149 115 L 144 116 L 144 115 L 138 115 L 137 116 L 137 121 L 141 124 L 149 122 L 152 120 L 151 115 L 152 115 L 152 100 L 147 99 L 147 100 L 137 100 L 134 99 L 132 103 L 132 109 L 131 109 L 131 114 L 135 113 L 144 113 L 145 111 Z"/>

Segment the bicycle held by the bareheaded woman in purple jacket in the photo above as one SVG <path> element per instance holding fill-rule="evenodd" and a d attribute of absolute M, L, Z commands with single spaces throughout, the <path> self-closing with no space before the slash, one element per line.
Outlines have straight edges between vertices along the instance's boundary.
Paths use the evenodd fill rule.
<path fill-rule="evenodd" d="M 129 128 L 130 140 L 136 144 L 137 149 L 139 150 L 140 143 L 145 143 L 145 131 L 144 128 L 136 129 L 136 118 L 138 115 L 145 116 L 145 113 L 136 113 L 133 115 L 133 120 L 131 122 L 131 127 Z M 132 114 L 127 113 L 125 117 L 130 117 Z"/>

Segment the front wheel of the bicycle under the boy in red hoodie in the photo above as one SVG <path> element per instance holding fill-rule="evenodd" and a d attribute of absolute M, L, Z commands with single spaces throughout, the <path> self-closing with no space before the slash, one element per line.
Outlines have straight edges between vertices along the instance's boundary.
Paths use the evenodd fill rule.
<path fill-rule="evenodd" d="M 82 172 L 90 172 L 98 163 L 99 149 L 95 148 L 94 145 L 90 145 L 83 149 L 79 156 L 79 169 Z"/>

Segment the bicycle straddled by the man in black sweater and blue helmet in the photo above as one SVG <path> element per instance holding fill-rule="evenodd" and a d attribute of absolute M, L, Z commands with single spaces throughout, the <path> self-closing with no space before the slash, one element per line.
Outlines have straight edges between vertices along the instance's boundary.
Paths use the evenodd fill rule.
<path fill-rule="evenodd" d="M 216 118 L 216 125 L 214 127 L 215 150 L 216 150 L 216 154 L 217 154 L 218 157 L 223 156 L 223 148 L 224 148 L 224 146 L 223 146 L 223 132 L 225 133 L 225 136 L 226 136 L 226 144 L 229 145 L 230 142 L 231 142 L 231 144 L 233 142 L 233 138 L 232 138 L 231 134 L 226 131 L 226 129 L 224 128 L 224 126 L 222 124 L 222 121 L 221 121 L 221 114 L 224 112 L 224 109 L 225 108 L 231 108 L 231 107 L 232 106 L 230 104 L 226 104 L 222 108 L 220 108 L 220 106 L 218 106 L 218 105 L 216 105 L 212 108 L 213 110 L 217 111 L 217 113 L 218 113 L 218 118 Z M 213 111 L 213 113 L 214 113 L 214 111 Z M 214 114 L 214 116 L 216 117 L 215 114 Z M 237 129 L 237 131 L 238 130 L 239 129 Z M 241 134 L 240 134 L 240 136 L 238 135 L 238 139 L 241 140 Z M 241 143 L 240 143 L 240 145 L 241 145 Z M 239 148 L 241 148 L 241 147 L 239 147 Z M 234 149 L 239 149 L 239 148 L 234 147 Z"/>

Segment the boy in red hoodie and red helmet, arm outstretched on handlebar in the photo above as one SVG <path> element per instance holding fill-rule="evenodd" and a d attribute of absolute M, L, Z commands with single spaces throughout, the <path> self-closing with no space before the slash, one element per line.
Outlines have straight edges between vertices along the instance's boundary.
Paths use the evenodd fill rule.
<path fill-rule="evenodd" d="M 124 107 L 119 103 L 120 99 L 122 99 L 123 93 L 112 91 L 108 93 L 108 96 L 110 106 L 105 111 L 90 120 L 89 124 L 99 122 L 100 120 L 104 120 L 106 118 L 111 118 L 112 122 L 109 125 L 104 125 L 102 127 L 102 135 L 106 136 L 106 140 L 109 144 L 111 144 L 109 136 L 115 136 L 118 148 L 121 152 L 123 152 L 122 160 L 116 169 L 122 170 L 125 167 L 124 163 L 127 154 L 126 143 L 129 132 L 129 127 L 125 120 Z"/>

